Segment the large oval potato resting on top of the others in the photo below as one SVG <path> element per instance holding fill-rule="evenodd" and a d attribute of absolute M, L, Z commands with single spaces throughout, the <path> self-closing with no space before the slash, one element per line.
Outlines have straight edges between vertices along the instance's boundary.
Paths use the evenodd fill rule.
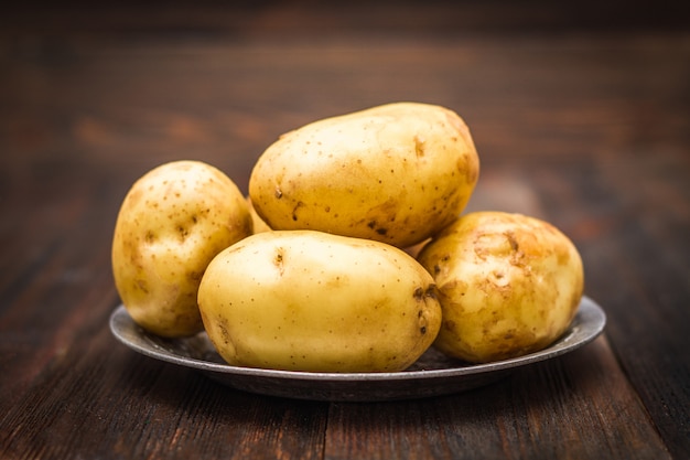
<path fill-rule="evenodd" d="M 464 121 L 397 103 L 281 136 L 258 159 L 251 201 L 273 229 L 315 229 L 408 247 L 449 225 L 477 182 Z"/>

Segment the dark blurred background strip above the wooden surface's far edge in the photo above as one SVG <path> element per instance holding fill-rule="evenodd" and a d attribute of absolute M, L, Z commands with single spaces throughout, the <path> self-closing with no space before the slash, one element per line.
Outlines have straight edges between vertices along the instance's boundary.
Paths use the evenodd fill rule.
<path fill-rule="evenodd" d="M 339 33 L 615 33 L 687 30 L 679 0 L 651 3 L 548 0 L 242 0 L 24 1 L 6 7 L 4 33 L 201 33 L 337 35 Z"/>

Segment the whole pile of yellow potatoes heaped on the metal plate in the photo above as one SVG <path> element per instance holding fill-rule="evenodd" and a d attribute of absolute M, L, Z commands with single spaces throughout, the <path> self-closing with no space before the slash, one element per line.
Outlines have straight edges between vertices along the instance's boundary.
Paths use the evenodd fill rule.
<path fill-rule="evenodd" d="M 116 287 L 141 328 L 205 330 L 233 365 L 397 372 L 432 345 L 470 363 L 541 350 L 575 314 L 582 260 L 543 221 L 462 215 L 478 175 L 461 117 L 417 103 L 281 136 L 249 196 L 209 164 L 165 163 L 125 197 Z"/>

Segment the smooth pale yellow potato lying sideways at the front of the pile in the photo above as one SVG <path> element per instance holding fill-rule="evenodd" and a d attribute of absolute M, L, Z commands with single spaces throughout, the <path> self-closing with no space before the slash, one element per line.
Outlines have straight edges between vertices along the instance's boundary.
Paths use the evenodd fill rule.
<path fill-rule="evenodd" d="M 393 246 L 315 231 L 258 233 L 216 256 L 198 303 L 229 364 L 395 372 L 433 342 L 433 279 Z"/>

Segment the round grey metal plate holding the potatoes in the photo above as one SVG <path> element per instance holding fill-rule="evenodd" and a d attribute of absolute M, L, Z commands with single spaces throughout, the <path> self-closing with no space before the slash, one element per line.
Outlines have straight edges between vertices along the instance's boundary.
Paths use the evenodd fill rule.
<path fill-rule="evenodd" d="M 602 308 L 583 297 L 568 331 L 551 346 L 526 356 L 474 365 L 451 360 L 431 349 L 403 372 L 314 373 L 230 366 L 223 362 L 204 332 L 187 339 L 162 339 L 138 327 L 123 306 L 110 317 L 112 334 L 130 349 L 195 368 L 229 387 L 271 396 L 339 402 L 422 398 L 488 385 L 517 367 L 550 360 L 590 343 L 605 323 Z"/>

